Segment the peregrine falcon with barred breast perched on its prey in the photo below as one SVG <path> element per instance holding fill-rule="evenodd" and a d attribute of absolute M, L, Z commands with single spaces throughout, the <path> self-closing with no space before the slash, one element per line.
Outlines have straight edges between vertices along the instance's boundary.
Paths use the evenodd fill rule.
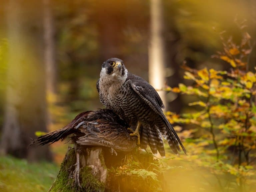
<path fill-rule="evenodd" d="M 142 149 L 149 145 L 153 154 L 158 151 L 164 157 L 163 136 L 175 154 L 181 151 L 179 146 L 186 153 L 161 109 L 164 105 L 156 90 L 141 77 L 129 73 L 121 59 L 111 58 L 102 64 L 96 86 L 102 104 L 129 124 L 133 132 L 130 135 L 138 137 Z"/>

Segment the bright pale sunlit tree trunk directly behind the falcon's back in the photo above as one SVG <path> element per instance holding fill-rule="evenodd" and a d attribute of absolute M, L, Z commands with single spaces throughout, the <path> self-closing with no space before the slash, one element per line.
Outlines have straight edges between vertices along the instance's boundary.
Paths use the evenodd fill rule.
<path fill-rule="evenodd" d="M 161 0 L 150 1 L 149 83 L 157 90 L 165 85 L 165 52 Z M 166 106 L 165 92 L 158 91 Z"/>

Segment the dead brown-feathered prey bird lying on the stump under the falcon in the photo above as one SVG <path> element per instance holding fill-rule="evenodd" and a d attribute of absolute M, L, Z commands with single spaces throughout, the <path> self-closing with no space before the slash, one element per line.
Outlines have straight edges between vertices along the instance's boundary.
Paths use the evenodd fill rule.
<path fill-rule="evenodd" d="M 127 123 L 111 110 L 87 111 L 77 115 L 64 128 L 38 137 L 31 144 L 51 144 L 59 140 L 63 141 L 70 135 L 71 139 L 79 145 L 131 151 L 136 147 L 136 137 L 130 136 L 127 127 Z"/>

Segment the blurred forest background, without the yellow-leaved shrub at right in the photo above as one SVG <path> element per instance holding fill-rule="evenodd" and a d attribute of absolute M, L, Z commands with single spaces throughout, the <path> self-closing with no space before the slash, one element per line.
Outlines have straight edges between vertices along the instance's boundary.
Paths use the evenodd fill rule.
<path fill-rule="evenodd" d="M 247 32 L 248 68 L 255 72 L 255 10 L 255 0 L 0 1 L 0 191 L 48 190 L 69 144 L 27 146 L 35 133 L 62 128 L 82 111 L 103 108 L 96 81 L 108 58 L 122 59 L 129 72 L 149 81 L 165 110 L 175 114 L 198 109 L 188 106 L 196 97 L 168 91 L 193 84 L 183 78 L 184 62 L 197 70 L 229 70 L 224 59 L 212 57 L 223 51 L 223 39 L 232 37 L 239 44 Z M 183 130 L 188 149 L 204 153 L 199 147 L 206 144 L 186 139 L 204 133 L 189 132 L 195 125 L 175 125 L 182 127 L 177 130 Z M 209 147 L 214 151 L 212 143 Z M 197 165 L 200 156 L 177 157 L 167 145 L 166 152 L 175 157 L 168 161 L 175 167 L 165 174 L 166 191 L 255 190 L 255 161 L 241 187 L 238 175 Z M 255 160 L 255 149 L 251 152 Z"/>

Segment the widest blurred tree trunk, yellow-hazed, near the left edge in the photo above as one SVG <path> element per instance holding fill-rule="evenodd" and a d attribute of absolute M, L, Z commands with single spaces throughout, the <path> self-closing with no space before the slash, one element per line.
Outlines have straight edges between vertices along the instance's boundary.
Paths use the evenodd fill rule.
<path fill-rule="evenodd" d="M 51 159 L 47 146 L 28 148 L 36 131 L 46 131 L 42 2 L 9 0 L 7 91 L 1 151 L 29 160 Z"/>

